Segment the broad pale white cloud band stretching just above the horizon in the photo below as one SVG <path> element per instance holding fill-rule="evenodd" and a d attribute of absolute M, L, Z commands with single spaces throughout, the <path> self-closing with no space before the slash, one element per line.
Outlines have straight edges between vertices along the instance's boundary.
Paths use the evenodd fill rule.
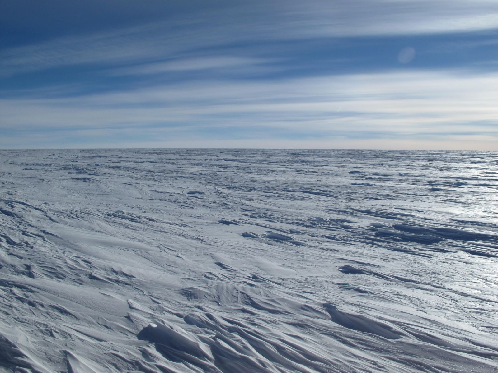
<path fill-rule="evenodd" d="M 498 144 L 497 85 L 497 74 L 476 77 L 462 71 L 260 83 L 200 81 L 120 93 L 11 99 L 1 111 L 9 123 L 4 129 L 88 129 L 109 139 L 135 131 L 151 134 L 154 141 L 167 141 L 172 133 L 182 140 L 222 129 L 234 139 L 257 140 L 276 132 L 287 133 L 280 136 L 284 138 L 413 141 L 433 134 L 441 141 L 472 135 Z"/>

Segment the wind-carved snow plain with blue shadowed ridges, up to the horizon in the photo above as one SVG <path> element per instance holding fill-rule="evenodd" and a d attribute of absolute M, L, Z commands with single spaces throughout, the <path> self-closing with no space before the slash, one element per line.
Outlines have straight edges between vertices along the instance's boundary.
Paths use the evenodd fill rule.
<path fill-rule="evenodd" d="M 497 153 L 0 160 L 0 371 L 498 372 Z"/>

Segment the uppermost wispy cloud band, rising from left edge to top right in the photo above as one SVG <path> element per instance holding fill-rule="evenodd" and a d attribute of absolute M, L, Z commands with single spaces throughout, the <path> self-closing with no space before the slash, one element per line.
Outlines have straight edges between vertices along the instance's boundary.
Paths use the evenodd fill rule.
<path fill-rule="evenodd" d="M 145 5 L 146 6 L 146 5 Z M 208 53 L 237 43 L 306 38 L 419 35 L 498 28 L 494 0 L 274 1 L 172 14 L 112 31 L 7 48 L 3 75 L 78 64 L 113 66 Z"/>

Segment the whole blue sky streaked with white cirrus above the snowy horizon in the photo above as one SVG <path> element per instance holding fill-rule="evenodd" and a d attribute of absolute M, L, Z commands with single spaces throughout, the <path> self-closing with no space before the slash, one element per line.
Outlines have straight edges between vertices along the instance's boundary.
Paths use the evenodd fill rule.
<path fill-rule="evenodd" d="M 497 0 L 0 2 L 0 148 L 498 151 Z"/>

